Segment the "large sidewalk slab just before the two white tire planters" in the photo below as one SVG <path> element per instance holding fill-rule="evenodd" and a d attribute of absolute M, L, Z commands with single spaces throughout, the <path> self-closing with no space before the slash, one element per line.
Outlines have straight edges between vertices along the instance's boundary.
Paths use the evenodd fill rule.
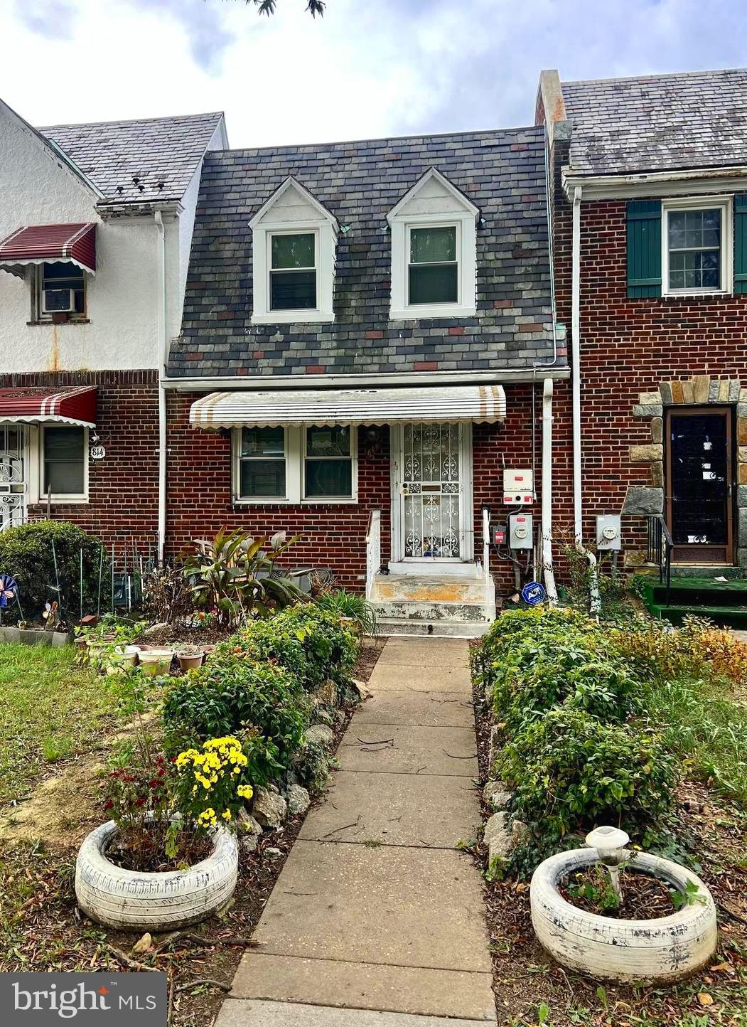
<path fill-rule="evenodd" d="M 268 955 L 490 972 L 480 875 L 447 849 L 297 839 L 254 938 Z"/>

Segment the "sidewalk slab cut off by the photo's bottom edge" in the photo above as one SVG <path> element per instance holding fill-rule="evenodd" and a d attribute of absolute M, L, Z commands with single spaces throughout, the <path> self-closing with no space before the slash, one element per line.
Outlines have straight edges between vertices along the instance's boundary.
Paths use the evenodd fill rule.
<path fill-rule="evenodd" d="M 495 1022 L 493 1018 L 490 1023 Z M 229 998 L 223 1003 L 215 1027 L 475 1027 L 475 1021 Z"/>

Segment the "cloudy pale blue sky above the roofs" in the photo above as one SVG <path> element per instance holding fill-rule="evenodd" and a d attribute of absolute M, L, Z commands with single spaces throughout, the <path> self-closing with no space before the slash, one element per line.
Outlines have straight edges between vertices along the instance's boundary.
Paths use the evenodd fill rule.
<path fill-rule="evenodd" d="M 47 125 L 222 110 L 233 148 L 532 124 L 541 69 L 747 64 L 744 0 L 0 0 L 0 97 Z"/>

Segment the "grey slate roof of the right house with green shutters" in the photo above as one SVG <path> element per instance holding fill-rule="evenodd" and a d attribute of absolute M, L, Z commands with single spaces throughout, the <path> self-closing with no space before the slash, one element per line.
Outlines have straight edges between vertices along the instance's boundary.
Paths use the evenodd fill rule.
<path fill-rule="evenodd" d="M 577 173 L 747 164 L 747 69 L 563 82 Z"/>

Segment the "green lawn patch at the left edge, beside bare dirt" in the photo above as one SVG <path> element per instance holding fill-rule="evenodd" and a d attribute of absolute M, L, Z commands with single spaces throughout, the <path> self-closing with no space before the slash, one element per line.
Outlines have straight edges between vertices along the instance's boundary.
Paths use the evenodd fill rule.
<path fill-rule="evenodd" d="M 116 722 L 104 679 L 75 648 L 0 644 L 0 802 L 23 798 L 49 765 L 96 746 Z"/>

